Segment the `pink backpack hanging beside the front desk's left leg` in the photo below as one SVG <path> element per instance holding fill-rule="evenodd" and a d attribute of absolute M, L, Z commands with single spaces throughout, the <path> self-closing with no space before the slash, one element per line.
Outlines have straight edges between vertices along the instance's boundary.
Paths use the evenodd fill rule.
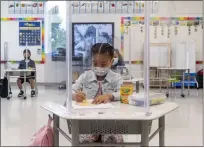
<path fill-rule="evenodd" d="M 52 119 L 49 116 L 47 125 L 40 128 L 37 131 L 31 140 L 31 143 L 28 146 L 42 146 L 42 147 L 53 147 L 54 146 L 54 131 L 51 126 Z"/>

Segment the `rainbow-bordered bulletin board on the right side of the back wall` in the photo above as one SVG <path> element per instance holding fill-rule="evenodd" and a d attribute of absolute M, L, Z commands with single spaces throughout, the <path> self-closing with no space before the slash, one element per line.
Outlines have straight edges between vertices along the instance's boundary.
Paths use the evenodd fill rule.
<path fill-rule="evenodd" d="M 196 64 L 202 64 L 202 30 L 202 17 L 150 18 L 150 42 L 173 45 L 181 39 L 185 42 L 194 40 Z M 131 63 L 143 63 L 144 35 L 144 17 L 121 17 L 121 52 L 126 62 L 129 62 L 129 50 L 131 50 Z M 173 48 L 176 46 L 173 46 L 172 50 L 177 50 Z"/>

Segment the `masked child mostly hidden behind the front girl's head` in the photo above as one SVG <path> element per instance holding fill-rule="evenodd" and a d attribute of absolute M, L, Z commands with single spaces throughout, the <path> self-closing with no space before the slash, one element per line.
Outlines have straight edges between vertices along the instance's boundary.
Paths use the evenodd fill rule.
<path fill-rule="evenodd" d="M 113 71 L 117 71 L 117 66 L 125 66 L 125 63 L 123 61 L 123 57 L 120 54 L 120 51 L 118 49 L 114 49 L 114 61 L 113 64 L 111 66 L 111 70 Z"/>

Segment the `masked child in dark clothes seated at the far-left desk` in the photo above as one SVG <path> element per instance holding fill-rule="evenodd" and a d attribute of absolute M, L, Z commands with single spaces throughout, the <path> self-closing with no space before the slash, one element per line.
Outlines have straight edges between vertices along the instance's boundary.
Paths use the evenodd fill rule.
<path fill-rule="evenodd" d="M 26 59 L 26 52 L 27 52 L 27 59 Z M 31 52 L 29 49 L 25 49 L 23 51 L 23 56 L 24 56 L 24 60 L 22 60 L 19 64 L 19 69 L 26 69 L 26 63 L 28 63 L 28 67 L 27 68 L 32 68 L 35 69 L 35 62 L 33 60 L 31 60 L 30 56 L 31 56 Z M 27 60 L 27 61 L 26 61 Z M 28 82 L 30 84 L 31 87 L 31 97 L 35 96 L 35 73 L 31 72 L 30 76 L 26 76 L 26 82 Z M 23 91 L 23 87 L 22 84 L 24 83 L 24 77 L 20 76 L 17 79 L 17 85 L 18 88 L 20 89 L 20 93 L 18 94 L 18 97 L 22 97 L 24 95 L 24 91 Z"/>

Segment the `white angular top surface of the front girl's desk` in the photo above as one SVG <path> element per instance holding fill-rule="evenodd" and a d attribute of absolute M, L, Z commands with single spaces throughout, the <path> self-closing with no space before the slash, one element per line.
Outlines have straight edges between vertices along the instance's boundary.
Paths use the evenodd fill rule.
<path fill-rule="evenodd" d="M 41 107 L 47 111 L 58 115 L 61 118 L 69 120 L 155 120 L 179 106 L 173 102 L 165 102 L 164 104 L 150 107 L 150 116 L 145 115 L 145 108 L 122 104 L 120 102 L 112 102 L 113 109 L 77 109 L 68 113 L 63 105 L 53 102 L 47 102 Z"/>

